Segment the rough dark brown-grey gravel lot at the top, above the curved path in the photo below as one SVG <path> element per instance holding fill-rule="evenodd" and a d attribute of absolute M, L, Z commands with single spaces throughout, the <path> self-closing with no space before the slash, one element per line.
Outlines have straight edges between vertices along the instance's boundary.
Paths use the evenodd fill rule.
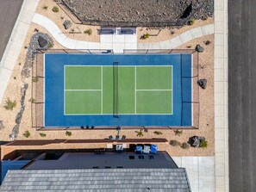
<path fill-rule="evenodd" d="M 212 17 L 214 12 L 213 0 L 62 1 L 84 24 L 113 27 L 180 26 L 190 19 Z"/>

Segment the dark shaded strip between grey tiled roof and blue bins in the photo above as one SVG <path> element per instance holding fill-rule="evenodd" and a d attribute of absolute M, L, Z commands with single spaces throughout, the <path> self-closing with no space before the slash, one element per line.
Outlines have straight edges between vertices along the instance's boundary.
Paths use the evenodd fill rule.
<path fill-rule="evenodd" d="M 134 156 L 133 159 L 131 159 Z M 62 170 L 92 168 L 178 168 L 167 152 L 66 152 L 57 160 L 35 160 L 26 170 Z"/>

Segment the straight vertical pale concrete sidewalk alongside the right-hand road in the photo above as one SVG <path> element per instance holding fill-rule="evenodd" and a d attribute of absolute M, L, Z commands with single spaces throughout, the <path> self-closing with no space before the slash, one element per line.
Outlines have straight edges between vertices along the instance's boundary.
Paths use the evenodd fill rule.
<path fill-rule="evenodd" d="M 215 0 L 215 191 L 229 191 L 228 0 Z"/>

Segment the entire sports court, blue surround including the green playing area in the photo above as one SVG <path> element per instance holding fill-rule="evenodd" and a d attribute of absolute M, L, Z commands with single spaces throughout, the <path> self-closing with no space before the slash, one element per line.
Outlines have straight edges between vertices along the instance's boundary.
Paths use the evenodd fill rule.
<path fill-rule="evenodd" d="M 45 127 L 192 125 L 191 54 L 45 54 Z"/>

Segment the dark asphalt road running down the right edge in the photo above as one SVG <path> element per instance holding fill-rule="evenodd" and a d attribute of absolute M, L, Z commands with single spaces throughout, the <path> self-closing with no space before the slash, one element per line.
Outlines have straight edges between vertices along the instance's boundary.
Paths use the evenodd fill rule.
<path fill-rule="evenodd" d="M 256 191 L 256 1 L 228 0 L 229 190 Z"/>

